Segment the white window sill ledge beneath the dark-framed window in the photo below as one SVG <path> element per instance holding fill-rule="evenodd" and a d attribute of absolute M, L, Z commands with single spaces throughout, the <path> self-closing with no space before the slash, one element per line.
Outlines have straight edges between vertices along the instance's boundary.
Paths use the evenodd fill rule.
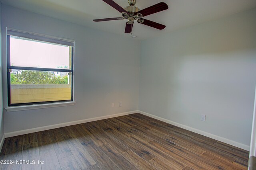
<path fill-rule="evenodd" d="M 6 107 L 6 111 L 22 111 L 22 110 L 32 110 L 32 109 L 43 109 L 49 107 L 61 107 L 61 106 L 72 106 L 75 105 L 76 102 L 59 102 L 59 103 L 50 103 L 50 104 L 34 104 L 27 106 L 12 106 Z"/>

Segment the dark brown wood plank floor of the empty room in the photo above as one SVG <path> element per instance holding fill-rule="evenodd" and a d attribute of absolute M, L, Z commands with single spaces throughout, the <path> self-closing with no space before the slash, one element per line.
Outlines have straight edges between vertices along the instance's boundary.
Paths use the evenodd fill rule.
<path fill-rule="evenodd" d="M 248 154 L 136 113 L 6 138 L 0 160 L 15 164 L 0 166 L 2 170 L 245 170 Z"/>

